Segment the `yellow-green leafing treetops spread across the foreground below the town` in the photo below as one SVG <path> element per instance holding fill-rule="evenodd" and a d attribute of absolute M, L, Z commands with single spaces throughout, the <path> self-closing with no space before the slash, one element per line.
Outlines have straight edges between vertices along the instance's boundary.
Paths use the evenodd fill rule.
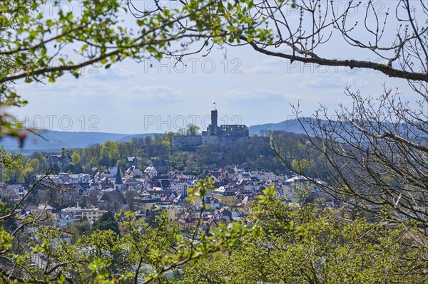
<path fill-rule="evenodd" d="M 205 196 L 213 189 L 212 182 L 209 178 L 198 181 L 190 189 L 189 200 Z M 405 234 L 405 226 L 379 225 L 360 217 L 352 220 L 347 213 L 323 211 L 314 205 L 285 205 L 275 199 L 273 187 L 263 191 L 251 212 L 241 223 L 220 223 L 210 236 L 201 232 L 198 237 L 195 231 L 192 238 L 177 234 L 178 228 L 168 222 L 165 211 L 156 217 L 156 227 L 136 220 L 131 212 L 124 213 L 121 235 L 113 231 L 113 223 L 117 226 L 113 215 L 105 214 L 93 226 L 91 236 L 83 234 L 73 244 L 61 241 L 61 230 L 38 226 L 34 228 L 37 238 L 19 243 L 19 250 L 0 252 L 0 278 L 20 283 L 57 279 L 64 283 L 137 282 L 143 275 L 144 283 L 155 279 L 160 283 L 427 280 L 423 272 L 427 248 L 413 246 L 414 239 Z M 98 226 L 100 223 L 105 226 Z M 2 234 L 1 245 L 9 246 L 9 235 Z M 401 245 L 397 238 L 407 243 Z M 44 261 L 26 267 L 37 258 Z M 182 270 L 180 277 L 165 278 L 165 272 L 177 269 Z"/>

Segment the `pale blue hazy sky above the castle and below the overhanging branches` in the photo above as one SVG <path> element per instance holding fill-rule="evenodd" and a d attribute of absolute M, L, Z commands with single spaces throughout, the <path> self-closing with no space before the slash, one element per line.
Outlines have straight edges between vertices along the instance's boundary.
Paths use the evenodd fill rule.
<path fill-rule="evenodd" d="M 386 9 L 387 1 L 379 3 Z M 334 58 L 370 56 L 350 53 L 342 43 L 333 37 L 321 51 Z M 16 90 L 29 104 L 13 113 L 28 127 L 138 134 L 178 131 L 188 123 L 205 129 L 214 102 L 219 124 L 250 126 L 295 118 L 291 105 L 297 103 L 305 116 L 320 105 L 332 111 L 350 105 L 346 86 L 372 96 L 382 94 L 383 84 L 398 86 L 404 98 L 409 91 L 404 80 L 377 71 L 290 63 L 250 46 L 213 48 L 184 61 L 126 60 L 108 70 L 86 67 L 80 78 L 64 75 L 54 84 L 19 81 Z"/>

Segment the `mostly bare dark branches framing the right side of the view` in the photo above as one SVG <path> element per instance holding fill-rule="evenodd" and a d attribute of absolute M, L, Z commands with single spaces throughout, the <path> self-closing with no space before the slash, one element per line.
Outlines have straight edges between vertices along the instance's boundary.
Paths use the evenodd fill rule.
<path fill-rule="evenodd" d="M 313 120 L 301 117 L 295 106 L 310 137 L 308 157 L 299 159 L 315 160 L 310 155 L 316 149 L 324 158 L 318 164 L 327 169 L 327 193 L 373 213 L 387 208 L 391 219 L 415 221 L 427 233 L 428 7 L 424 1 L 385 3 L 379 11 L 375 1 L 250 1 L 250 23 L 238 33 L 220 29 L 218 42 L 248 44 L 290 64 L 365 68 L 406 80 L 414 92 L 412 102 L 385 85 L 382 94 L 370 98 L 346 87 L 352 107 L 340 106 L 335 113 L 321 107 Z M 243 23 L 240 14 L 228 14 L 231 9 L 220 17 Z M 254 35 L 260 23 L 265 33 Z M 329 53 L 338 46 L 345 58 Z M 295 172 L 307 174 L 283 158 Z"/>

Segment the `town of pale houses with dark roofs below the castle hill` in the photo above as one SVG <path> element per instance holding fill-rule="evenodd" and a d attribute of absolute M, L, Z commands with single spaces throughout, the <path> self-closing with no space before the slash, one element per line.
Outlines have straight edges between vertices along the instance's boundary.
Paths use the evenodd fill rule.
<path fill-rule="evenodd" d="M 55 226 L 66 227 L 70 223 L 87 219 L 95 223 L 107 212 L 135 211 L 136 218 L 146 218 L 149 211 L 159 208 L 168 212 L 168 219 L 177 222 L 183 232 L 194 231 L 198 224 L 201 206 L 204 204 L 203 223 L 199 230 L 215 227 L 218 223 L 240 221 L 248 214 L 253 200 L 262 191 L 274 186 L 277 199 L 297 202 L 301 194 L 322 196 L 311 180 L 302 176 L 287 177 L 275 175 L 266 169 L 248 169 L 240 165 L 230 169 L 206 171 L 194 175 L 176 170 L 169 171 L 156 159 L 159 167 L 148 165 L 143 171 L 141 157 L 126 157 L 127 169 L 108 167 L 103 171 L 93 169 L 93 174 L 37 174 L 34 184 L 2 184 L 0 194 L 3 199 L 19 201 L 29 190 L 44 191 L 55 189 L 62 192 L 63 200 L 73 200 L 74 206 L 61 208 L 45 202 L 27 203 L 19 212 L 19 219 L 34 214 L 49 214 Z M 56 160 L 58 162 L 58 160 Z M 188 189 L 199 179 L 209 177 L 215 190 L 208 191 L 203 200 L 187 201 Z M 322 185 L 325 182 L 317 181 Z M 327 198 L 327 196 L 325 196 Z M 327 199 L 326 199 L 327 200 Z M 338 201 L 328 201 L 325 206 L 335 207 Z"/>

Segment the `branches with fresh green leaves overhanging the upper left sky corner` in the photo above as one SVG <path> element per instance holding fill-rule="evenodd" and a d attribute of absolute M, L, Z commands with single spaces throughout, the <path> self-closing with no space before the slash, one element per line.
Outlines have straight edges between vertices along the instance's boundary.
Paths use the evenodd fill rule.
<path fill-rule="evenodd" d="M 50 12 L 44 13 L 48 4 Z M 132 1 L 83 0 L 67 11 L 62 1 L 1 1 L 0 136 L 24 141 L 23 125 L 5 110 L 26 104 L 13 88 L 20 79 L 54 83 L 65 73 L 78 78 L 81 68 L 93 64 L 110 68 L 125 58 L 180 58 L 195 52 L 189 50 L 192 43 L 196 51 L 212 46 L 205 38 L 217 37 L 220 26 L 228 26 L 216 16 L 224 11 L 221 1 L 192 0 L 177 9 L 153 4 L 156 10 L 138 11 Z M 123 14 L 128 13 L 135 16 L 133 28 L 123 25 Z M 233 14 L 245 16 L 242 11 Z M 210 30 L 204 29 L 207 24 Z M 182 48 L 172 42 L 182 43 Z"/>

